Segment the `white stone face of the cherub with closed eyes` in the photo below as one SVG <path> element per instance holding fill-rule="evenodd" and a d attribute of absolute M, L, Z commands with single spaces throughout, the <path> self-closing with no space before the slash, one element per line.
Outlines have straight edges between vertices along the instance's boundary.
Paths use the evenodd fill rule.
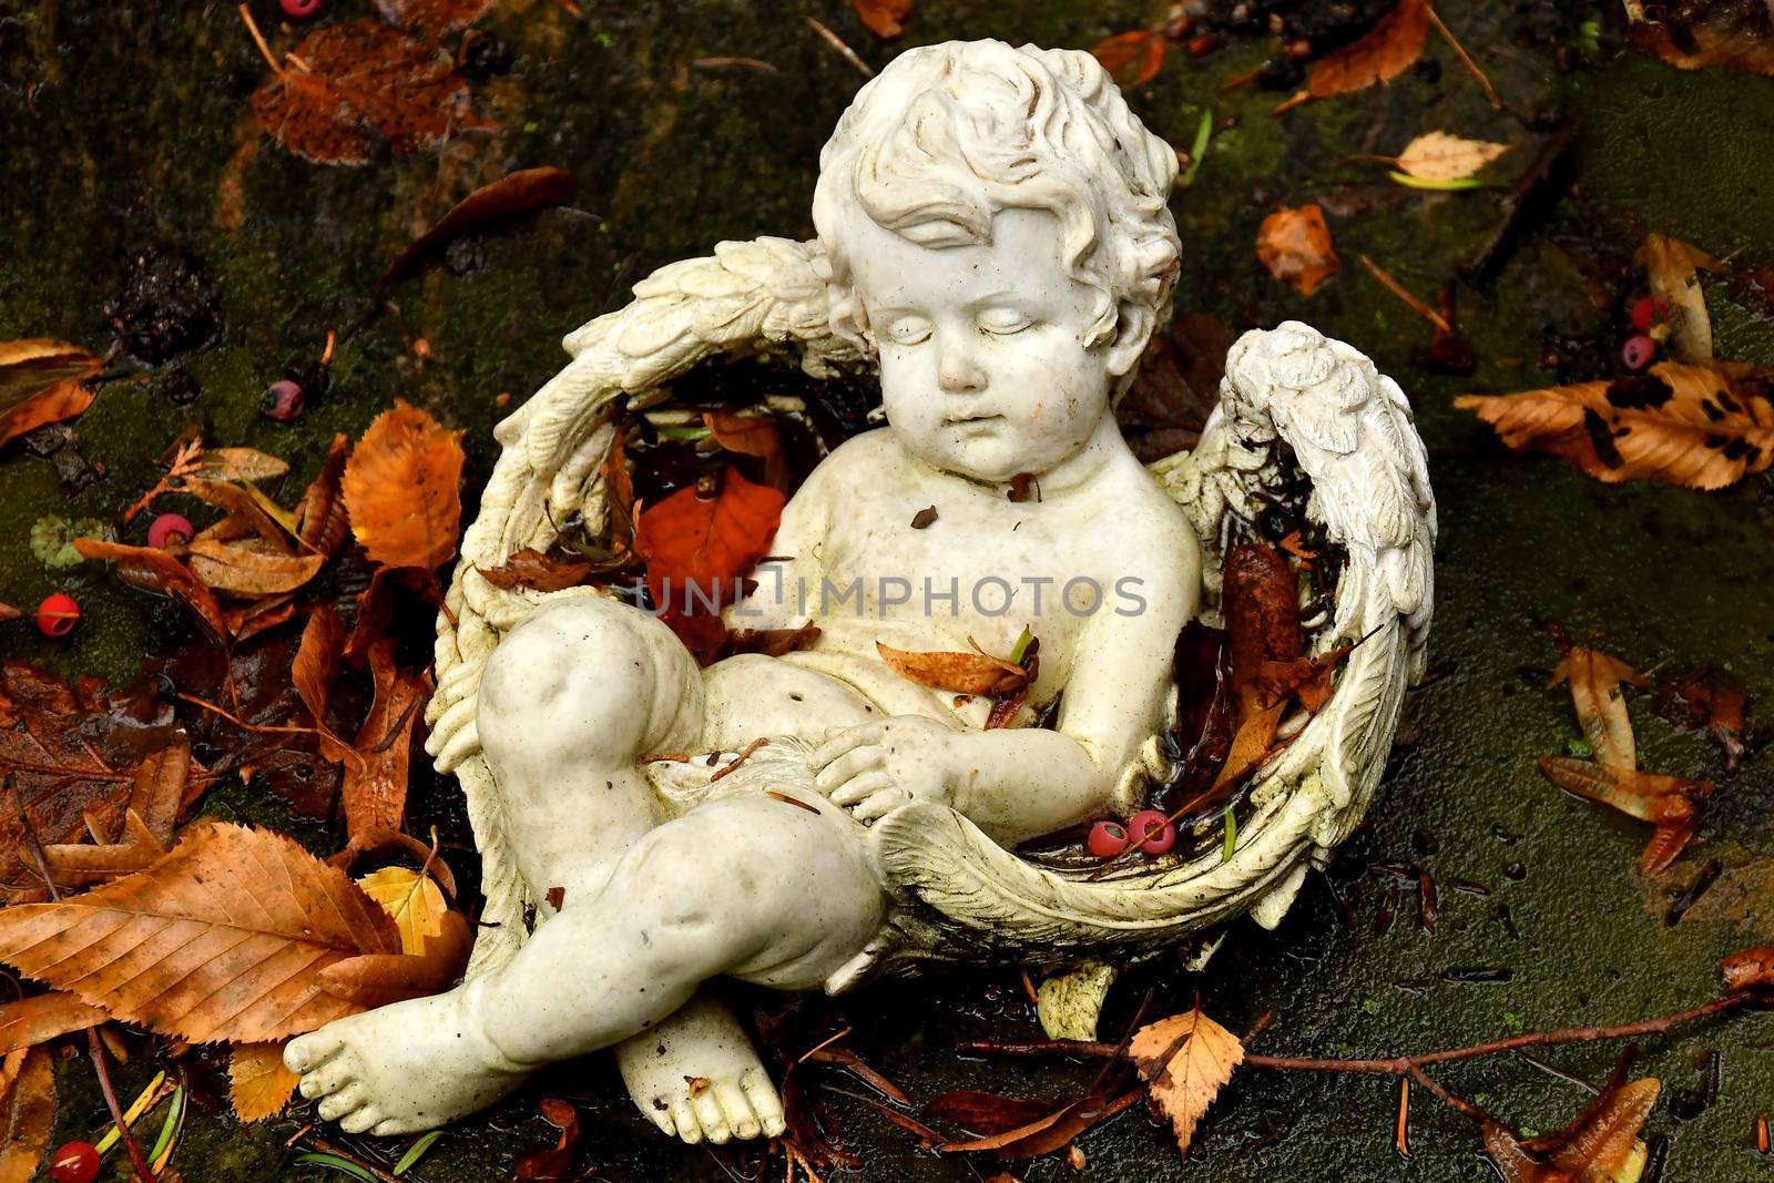
<path fill-rule="evenodd" d="M 917 458 L 974 481 L 1040 475 L 1109 408 L 1109 344 L 1080 344 L 1096 293 L 1061 266 L 1059 218 L 1004 209 L 992 241 L 921 247 L 850 213 L 846 255 L 880 348 L 887 422 Z"/>

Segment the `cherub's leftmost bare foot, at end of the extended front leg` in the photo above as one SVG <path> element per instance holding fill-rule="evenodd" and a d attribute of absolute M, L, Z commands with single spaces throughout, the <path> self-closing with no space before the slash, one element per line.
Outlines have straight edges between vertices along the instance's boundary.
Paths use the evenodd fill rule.
<path fill-rule="evenodd" d="M 484 1109 L 527 1077 L 468 1022 L 467 988 L 396 1002 L 291 1039 L 302 1096 L 348 1133 L 417 1133 Z"/>

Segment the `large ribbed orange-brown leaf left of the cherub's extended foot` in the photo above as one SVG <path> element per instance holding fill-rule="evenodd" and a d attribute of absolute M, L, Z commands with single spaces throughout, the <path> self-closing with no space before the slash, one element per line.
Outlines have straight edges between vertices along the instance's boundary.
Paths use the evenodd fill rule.
<path fill-rule="evenodd" d="M 399 956 L 394 921 L 346 874 L 268 830 L 192 830 L 149 871 L 0 910 L 0 960 L 114 1018 L 192 1043 L 259 1043 L 364 1009 L 325 974 Z"/>

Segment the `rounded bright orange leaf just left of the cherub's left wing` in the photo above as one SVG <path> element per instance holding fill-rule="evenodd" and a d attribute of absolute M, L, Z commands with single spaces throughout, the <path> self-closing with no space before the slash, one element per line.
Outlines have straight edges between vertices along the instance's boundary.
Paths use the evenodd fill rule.
<path fill-rule="evenodd" d="M 461 465 L 459 431 L 406 401 L 376 415 L 341 481 L 351 532 L 371 560 L 435 571 L 454 557 Z"/>

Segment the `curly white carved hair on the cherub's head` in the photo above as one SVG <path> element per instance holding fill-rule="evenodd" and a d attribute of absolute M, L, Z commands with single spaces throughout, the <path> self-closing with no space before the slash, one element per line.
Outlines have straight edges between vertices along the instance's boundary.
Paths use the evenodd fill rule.
<path fill-rule="evenodd" d="M 1047 209 L 1066 268 L 1098 293 L 1086 346 L 1114 335 L 1123 300 L 1162 323 L 1181 255 L 1166 204 L 1174 179 L 1176 153 L 1089 53 L 1002 41 L 908 50 L 857 92 L 820 153 L 812 222 L 832 270 L 832 328 L 873 351 L 839 238 L 850 202 L 926 247 L 990 241 L 1001 209 Z"/>

